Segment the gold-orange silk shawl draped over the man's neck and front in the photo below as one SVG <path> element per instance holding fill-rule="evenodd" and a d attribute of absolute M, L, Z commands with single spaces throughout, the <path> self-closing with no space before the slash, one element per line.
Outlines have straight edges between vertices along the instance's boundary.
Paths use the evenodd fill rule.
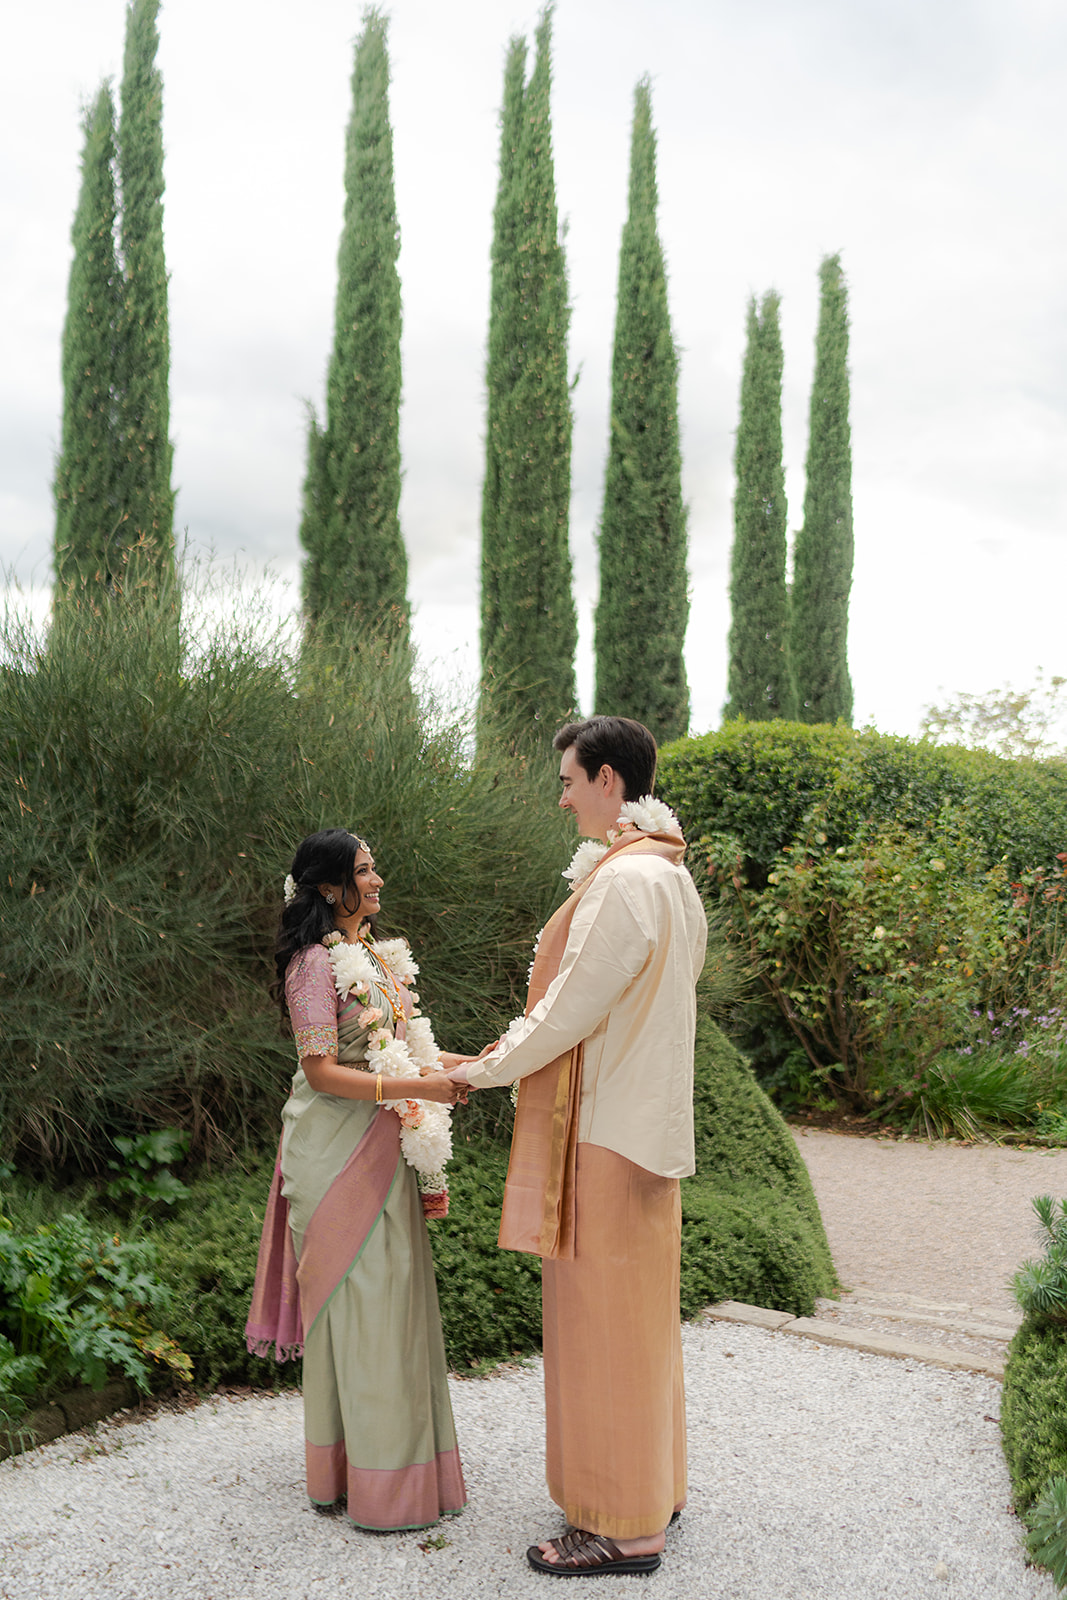
<path fill-rule="evenodd" d="M 560 971 L 577 902 L 605 861 L 624 850 L 681 862 L 685 842 L 677 834 L 622 834 L 616 838 L 589 877 L 545 923 L 530 974 L 526 1016 L 544 998 Z M 552 1261 L 574 1259 L 574 1163 L 581 1093 L 581 1042 L 539 1072 L 520 1078 L 501 1208 L 501 1250 L 523 1250 Z"/>

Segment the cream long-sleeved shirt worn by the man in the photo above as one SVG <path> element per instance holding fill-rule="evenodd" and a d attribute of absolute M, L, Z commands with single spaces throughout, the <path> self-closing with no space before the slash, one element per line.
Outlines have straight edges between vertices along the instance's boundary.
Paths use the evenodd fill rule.
<path fill-rule="evenodd" d="M 470 1083 L 514 1083 L 584 1040 L 579 1142 L 686 1178 L 696 1170 L 694 986 L 705 944 L 707 917 L 686 869 L 621 851 L 582 894 L 544 998 L 470 1066 Z"/>

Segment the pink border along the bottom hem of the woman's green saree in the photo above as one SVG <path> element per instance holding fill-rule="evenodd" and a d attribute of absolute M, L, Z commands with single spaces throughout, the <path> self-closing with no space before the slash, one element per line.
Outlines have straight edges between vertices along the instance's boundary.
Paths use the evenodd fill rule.
<path fill-rule="evenodd" d="M 344 1440 L 312 1445 L 307 1451 L 307 1493 L 318 1506 L 333 1506 L 347 1494 L 349 1518 L 358 1528 L 389 1533 L 429 1528 L 438 1517 L 467 1504 L 459 1450 L 442 1450 L 432 1461 L 410 1467 L 354 1467 Z"/>

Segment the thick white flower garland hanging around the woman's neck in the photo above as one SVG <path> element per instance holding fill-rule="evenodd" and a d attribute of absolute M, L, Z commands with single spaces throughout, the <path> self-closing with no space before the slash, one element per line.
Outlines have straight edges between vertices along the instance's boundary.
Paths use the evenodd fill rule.
<path fill-rule="evenodd" d="M 376 1027 L 382 1022 L 381 1006 L 368 1005 L 371 984 L 382 987 L 381 973 L 374 968 L 365 946 L 346 944 L 339 933 L 328 933 L 323 939 L 333 968 L 333 981 L 341 1000 L 357 994 L 363 1002 L 360 1024 L 371 1029 L 366 1061 L 373 1072 L 384 1072 L 390 1078 L 418 1078 L 422 1069 L 437 1070 L 438 1050 L 434 1038 L 430 1019 L 419 1016 L 418 1010 L 408 1018 L 406 1038 L 394 1038 L 387 1027 Z M 397 986 L 411 987 L 419 974 L 419 968 L 411 957 L 406 939 L 368 941 L 374 957 L 381 962 Z M 397 989 L 400 994 L 400 989 Z M 411 992 L 418 1003 L 418 994 Z M 419 1189 L 427 1195 L 446 1194 L 445 1165 L 453 1154 L 451 1107 L 438 1106 L 435 1101 L 402 1099 L 389 1101 L 382 1110 L 395 1110 L 400 1117 L 400 1149 L 408 1166 L 414 1166 L 419 1174 Z"/>

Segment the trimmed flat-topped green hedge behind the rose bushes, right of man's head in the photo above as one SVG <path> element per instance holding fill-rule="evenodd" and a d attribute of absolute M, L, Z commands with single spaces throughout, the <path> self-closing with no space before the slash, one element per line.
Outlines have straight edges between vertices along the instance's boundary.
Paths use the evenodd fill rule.
<path fill-rule="evenodd" d="M 816 803 L 833 846 L 865 821 L 926 824 L 949 802 L 966 813 L 984 866 L 1051 867 L 1067 848 L 1067 763 L 1009 762 L 843 723 L 731 722 L 678 739 L 661 750 L 657 790 L 689 842 L 736 834 L 763 870 Z"/>

